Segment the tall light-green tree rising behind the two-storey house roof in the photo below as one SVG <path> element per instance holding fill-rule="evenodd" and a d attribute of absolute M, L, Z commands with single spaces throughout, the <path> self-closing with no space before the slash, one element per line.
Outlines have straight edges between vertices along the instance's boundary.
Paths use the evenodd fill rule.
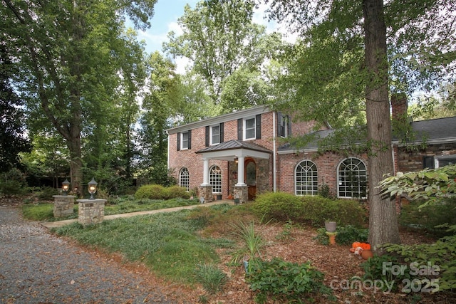
<path fill-rule="evenodd" d="M 281 37 L 266 34 L 264 26 L 253 23 L 253 12 L 252 0 L 199 1 L 195 9 L 185 6 L 184 16 L 178 20 L 184 33 L 176 36 L 170 32 L 170 42 L 164 46 L 172 56 L 190 60 L 193 72 L 207 83 L 210 98 L 215 105 L 222 105 L 225 112 L 265 103 L 249 97 L 264 95 L 263 86 L 257 85 L 265 82 L 261 67 L 274 52 L 279 52 L 275 46 L 280 45 Z M 249 88 L 239 90 L 237 93 L 244 95 L 234 100 L 229 92 L 232 83 L 246 78 Z M 224 98 L 227 99 L 223 101 Z"/>

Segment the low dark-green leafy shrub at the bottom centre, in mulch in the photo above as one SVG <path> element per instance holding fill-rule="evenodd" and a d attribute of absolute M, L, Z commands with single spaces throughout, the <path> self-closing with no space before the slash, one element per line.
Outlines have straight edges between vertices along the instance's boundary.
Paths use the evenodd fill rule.
<path fill-rule="evenodd" d="M 324 275 L 307 263 L 291 263 L 280 258 L 262 261 L 254 266 L 247 277 L 250 288 L 257 293 L 257 303 L 269 299 L 280 303 L 305 303 L 312 295 L 331 295 L 331 289 L 323 285 Z"/>

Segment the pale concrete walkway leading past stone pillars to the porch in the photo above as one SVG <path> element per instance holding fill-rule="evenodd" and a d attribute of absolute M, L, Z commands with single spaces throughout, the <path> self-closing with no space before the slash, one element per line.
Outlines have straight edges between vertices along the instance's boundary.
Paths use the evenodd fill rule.
<path fill-rule="evenodd" d="M 173 208 L 157 209 L 157 210 L 149 210 L 149 211 L 138 211 L 138 212 L 124 213 L 124 214 L 113 214 L 113 215 L 105 216 L 104 220 L 106 221 L 106 220 L 110 220 L 110 219 L 120 219 L 120 218 L 124 218 L 124 217 L 131 217 L 131 216 L 138 216 L 138 215 L 157 214 L 157 213 L 161 213 L 161 212 L 173 212 L 173 211 L 179 211 L 179 210 L 184 210 L 184 209 L 209 207 L 209 206 L 221 205 L 221 204 L 233 205 L 234 201 L 232 201 L 232 200 L 211 201 L 209 203 L 197 204 L 197 205 L 192 205 L 192 206 L 173 207 Z M 58 228 L 61 226 L 65 226 L 65 225 L 74 223 L 76 221 L 78 221 L 78 219 L 67 219 L 65 221 L 47 221 L 47 222 L 43 222 L 40 224 L 45 226 L 48 229 L 53 229 L 53 228 Z"/>

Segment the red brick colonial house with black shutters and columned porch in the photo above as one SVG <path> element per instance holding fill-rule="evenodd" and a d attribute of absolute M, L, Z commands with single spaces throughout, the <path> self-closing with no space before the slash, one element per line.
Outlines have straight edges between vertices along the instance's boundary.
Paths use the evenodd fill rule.
<path fill-rule="evenodd" d="M 392 104 L 393 119 L 407 110 L 404 98 Z M 456 117 L 411 124 L 415 142 L 392 142 L 396 171 L 456 162 Z M 286 137 L 313 127 L 313 122 L 291 123 L 289 116 L 266 106 L 173 127 L 167 130 L 168 168 L 180 186 L 206 201 L 232 196 L 245 202 L 262 192 L 315 195 L 323 184 L 340 198 L 366 197 L 366 154 L 321 154 L 314 144 L 284 145 Z M 323 128 L 316 135 L 331 132 Z M 410 150 L 413 144 L 420 147 Z"/>

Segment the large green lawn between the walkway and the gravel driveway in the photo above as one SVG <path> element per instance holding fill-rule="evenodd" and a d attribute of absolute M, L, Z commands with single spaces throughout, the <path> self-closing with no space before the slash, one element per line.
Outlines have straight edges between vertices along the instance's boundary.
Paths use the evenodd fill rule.
<path fill-rule="evenodd" d="M 192 284 L 198 282 L 195 274 L 198 265 L 219 262 L 215 250 L 232 245 L 232 241 L 199 236 L 204 223 L 189 216 L 190 212 L 134 216 L 85 227 L 73 223 L 55 231 L 86 246 L 145 263 L 157 275 L 172 282 Z"/>

